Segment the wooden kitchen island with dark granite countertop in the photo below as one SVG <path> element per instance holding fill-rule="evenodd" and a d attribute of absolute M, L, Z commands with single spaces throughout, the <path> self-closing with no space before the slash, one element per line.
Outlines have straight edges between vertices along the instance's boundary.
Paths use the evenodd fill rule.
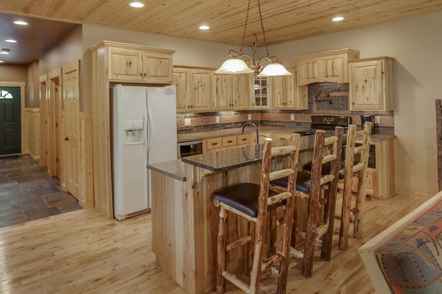
<path fill-rule="evenodd" d="M 282 144 L 287 141 L 278 145 Z M 152 250 L 157 265 L 188 293 L 206 293 L 215 287 L 220 208 L 213 204 L 213 191 L 240 182 L 258 184 L 261 159 L 260 148 L 247 146 L 148 166 L 153 192 Z M 275 158 L 273 164 L 284 160 Z M 229 235 L 247 228 L 244 220 L 233 215 L 227 221 Z M 230 268 L 244 264 L 242 252 L 229 255 Z"/>

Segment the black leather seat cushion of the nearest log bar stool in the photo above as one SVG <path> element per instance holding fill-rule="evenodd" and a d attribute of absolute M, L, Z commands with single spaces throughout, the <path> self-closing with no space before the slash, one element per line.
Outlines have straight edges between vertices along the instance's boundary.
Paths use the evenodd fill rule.
<path fill-rule="evenodd" d="M 260 185 L 252 183 L 241 183 L 219 190 L 213 195 L 213 197 L 219 202 L 236 208 L 242 213 L 249 215 L 250 217 L 257 217 L 259 193 Z M 277 192 L 269 190 L 269 197 L 277 194 Z M 277 202 L 269 206 L 267 209 L 275 209 L 278 206 L 282 206 L 284 204 L 285 201 L 281 203 Z"/>

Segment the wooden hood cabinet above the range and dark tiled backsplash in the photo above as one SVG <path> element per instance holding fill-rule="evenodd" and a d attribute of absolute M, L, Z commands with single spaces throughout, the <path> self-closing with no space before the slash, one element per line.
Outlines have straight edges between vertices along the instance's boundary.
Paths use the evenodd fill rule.
<path fill-rule="evenodd" d="M 348 83 L 348 61 L 358 57 L 359 52 L 351 49 L 297 56 L 297 84 L 305 86 L 320 81 Z"/>

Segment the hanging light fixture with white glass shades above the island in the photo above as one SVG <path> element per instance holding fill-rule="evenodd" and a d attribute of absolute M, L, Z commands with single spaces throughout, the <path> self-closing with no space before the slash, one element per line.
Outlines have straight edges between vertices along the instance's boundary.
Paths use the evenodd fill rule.
<path fill-rule="evenodd" d="M 244 33 L 242 35 L 242 44 L 239 51 L 229 50 L 229 56 L 231 59 L 227 59 L 222 63 L 222 66 L 215 70 L 215 73 L 221 74 L 240 74 L 240 73 L 254 73 L 257 77 L 270 77 L 270 76 L 278 76 L 278 75 L 291 75 L 289 71 L 285 69 L 282 64 L 277 63 L 278 57 L 270 56 L 269 49 L 267 48 L 267 41 L 265 40 L 265 30 L 264 25 L 262 24 L 262 15 L 261 15 L 261 7 L 260 0 L 258 2 L 258 11 L 260 12 L 260 22 L 262 29 L 262 38 L 264 39 L 266 55 L 260 57 L 258 60 L 255 58 L 256 49 L 258 48 L 258 38 L 256 34 L 253 33 L 252 37 L 252 46 L 253 52 L 252 55 L 247 55 L 244 53 L 244 39 L 246 36 L 247 30 L 247 21 L 249 20 L 249 10 L 250 10 L 250 1 L 247 5 L 247 14 L 246 21 L 244 23 Z M 242 59 L 248 59 L 249 64 L 245 63 Z"/>

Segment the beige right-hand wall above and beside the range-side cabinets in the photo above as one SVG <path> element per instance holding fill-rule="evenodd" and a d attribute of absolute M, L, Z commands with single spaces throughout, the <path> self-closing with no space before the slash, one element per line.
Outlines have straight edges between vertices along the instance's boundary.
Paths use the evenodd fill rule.
<path fill-rule="evenodd" d="M 361 58 L 394 57 L 396 189 L 435 194 L 436 112 L 442 99 L 442 13 L 347 30 L 269 47 L 271 55 L 296 66 L 294 56 L 351 48 Z"/>

